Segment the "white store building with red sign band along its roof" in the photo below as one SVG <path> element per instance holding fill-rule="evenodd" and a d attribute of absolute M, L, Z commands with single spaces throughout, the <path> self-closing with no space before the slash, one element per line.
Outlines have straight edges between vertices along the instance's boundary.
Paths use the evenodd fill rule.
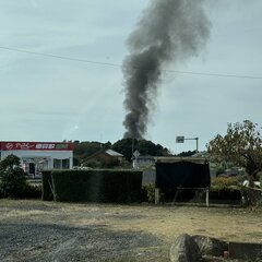
<path fill-rule="evenodd" d="M 71 169 L 73 143 L 64 142 L 0 142 L 0 159 L 8 155 L 21 158 L 23 169 L 37 176 L 46 169 Z"/>

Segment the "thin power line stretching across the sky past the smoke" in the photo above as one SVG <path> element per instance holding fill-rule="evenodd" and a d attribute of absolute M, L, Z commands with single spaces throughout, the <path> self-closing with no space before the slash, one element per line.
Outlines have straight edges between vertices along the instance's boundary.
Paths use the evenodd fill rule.
<path fill-rule="evenodd" d="M 99 61 L 93 61 L 93 60 L 86 60 L 86 59 L 80 59 L 80 58 L 57 56 L 57 55 L 51 55 L 51 53 L 35 52 L 35 51 L 28 51 L 28 50 L 11 48 L 11 47 L 0 46 L 0 49 L 4 49 L 4 50 L 9 50 L 9 51 L 16 51 L 16 52 L 24 52 L 24 53 L 29 53 L 29 55 L 35 55 L 35 56 L 43 56 L 43 57 L 62 59 L 62 60 L 83 62 L 83 63 L 93 63 L 93 64 L 99 64 L 99 66 L 122 68 L 122 66 L 118 64 L 118 63 L 99 62 Z M 145 70 L 145 69 L 143 69 L 143 70 Z M 151 69 L 147 69 L 147 70 L 151 70 Z M 192 75 L 203 75 L 203 76 L 218 76 L 218 78 L 262 80 L 262 76 L 241 75 L 241 74 L 205 73 L 205 72 L 191 72 L 191 71 L 179 71 L 179 70 L 168 70 L 168 69 L 163 69 L 163 72 L 179 73 L 179 74 L 192 74 Z"/>

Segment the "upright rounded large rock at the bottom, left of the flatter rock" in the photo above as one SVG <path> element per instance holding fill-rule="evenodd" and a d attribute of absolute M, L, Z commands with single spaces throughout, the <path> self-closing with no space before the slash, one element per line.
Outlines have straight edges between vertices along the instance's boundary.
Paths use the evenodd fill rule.
<path fill-rule="evenodd" d="M 193 238 L 187 234 L 180 235 L 170 248 L 171 262 L 199 262 L 201 254 Z"/>

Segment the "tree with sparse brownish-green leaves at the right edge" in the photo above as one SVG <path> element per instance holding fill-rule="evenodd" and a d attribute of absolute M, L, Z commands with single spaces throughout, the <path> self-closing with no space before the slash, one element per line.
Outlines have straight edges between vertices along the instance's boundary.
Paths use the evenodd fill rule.
<path fill-rule="evenodd" d="M 262 138 L 258 124 L 249 120 L 228 123 L 227 133 L 217 134 L 207 144 L 207 152 L 216 163 L 245 167 L 251 182 L 262 169 Z"/>

